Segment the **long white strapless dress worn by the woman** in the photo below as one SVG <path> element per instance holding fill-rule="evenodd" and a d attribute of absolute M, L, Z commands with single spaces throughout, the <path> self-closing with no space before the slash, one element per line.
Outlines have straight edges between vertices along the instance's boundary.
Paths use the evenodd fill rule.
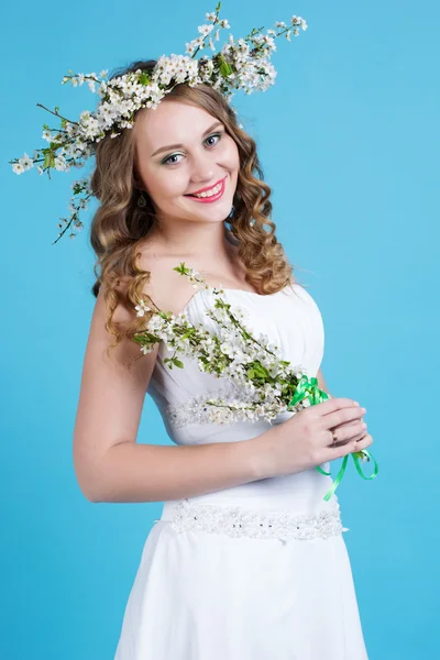
<path fill-rule="evenodd" d="M 223 290 L 254 336 L 266 334 L 292 366 L 316 376 L 323 324 L 302 286 L 268 296 Z M 185 307 L 188 320 L 215 330 L 204 314 L 212 302 L 209 290 L 198 290 Z M 239 442 L 270 428 L 262 418 L 207 421 L 202 399 L 228 392 L 228 382 L 187 358 L 184 369 L 169 370 L 163 360 L 170 354 L 162 343 L 147 392 L 176 444 Z M 330 464 L 321 468 L 329 472 Z M 346 528 L 338 496 L 323 499 L 331 485 L 314 468 L 165 502 L 144 544 L 114 660 L 365 660 Z M 243 512 L 246 524 L 237 517 Z M 283 521 L 267 518 L 274 515 Z"/>

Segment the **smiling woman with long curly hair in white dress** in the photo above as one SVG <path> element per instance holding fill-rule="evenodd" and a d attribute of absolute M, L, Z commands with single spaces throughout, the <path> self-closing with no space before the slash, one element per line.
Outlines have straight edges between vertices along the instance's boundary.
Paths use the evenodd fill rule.
<path fill-rule="evenodd" d="M 128 70 L 151 73 L 154 64 Z M 202 400 L 222 380 L 190 361 L 170 371 L 163 344 L 139 359 L 132 341 L 145 323 L 134 306 L 145 297 L 209 327 L 208 293 L 194 294 L 173 270 L 185 262 L 208 285 L 222 285 L 228 301 L 248 312 L 248 327 L 276 340 L 284 359 L 326 389 L 320 311 L 292 276 L 262 178 L 254 141 L 208 85 L 177 85 L 96 152 L 101 206 L 91 241 L 101 276 L 75 426 L 76 474 L 91 502 L 165 502 L 116 660 L 367 657 L 338 498 L 323 499 L 331 477 L 316 470 L 373 442 L 365 409 L 330 398 L 272 426 L 209 424 Z M 136 443 L 145 392 L 177 447 Z M 274 512 L 285 514 L 276 532 Z M 326 534 L 317 534 L 323 519 Z M 252 528 L 243 520 L 257 531 L 242 534 Z"/>

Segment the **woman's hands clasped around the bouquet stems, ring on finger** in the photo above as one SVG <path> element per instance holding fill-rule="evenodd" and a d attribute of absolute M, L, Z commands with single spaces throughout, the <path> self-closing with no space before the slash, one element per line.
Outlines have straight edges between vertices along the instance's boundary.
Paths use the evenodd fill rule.
<path fill-rule="evenodd" d="M 373 443 L 363 426 L 365 409 L 350 398 L 330 398 L 296 413 L 265 437 L 267 476 L 301 472 L 361 451 Z M 338 435 L 333 444 L 331 429 Z"/>

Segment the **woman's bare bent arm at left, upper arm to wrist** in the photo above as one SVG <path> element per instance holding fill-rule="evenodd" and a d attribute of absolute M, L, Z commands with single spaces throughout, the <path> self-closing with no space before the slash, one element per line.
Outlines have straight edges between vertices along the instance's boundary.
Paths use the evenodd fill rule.
<path fill-rule="evenodd" d="M 118 311 L 118 310 L 117 310 Z M 121 314 L 127 314 L 121 311 Z M 123 317 L 116 317 L 123 320 Z M 125 318 L 127 320 L 127 318 Z M 228 488 L 266 476 L 265 443 L 258 438 L 197 447 L 136 442 L 156 350 L 132 363 L 140 346 L 124 340 L 110 361 L 100 290 L 84 361 L 74 432 L 77 481 L 90 502 L 163 502 Z"/>

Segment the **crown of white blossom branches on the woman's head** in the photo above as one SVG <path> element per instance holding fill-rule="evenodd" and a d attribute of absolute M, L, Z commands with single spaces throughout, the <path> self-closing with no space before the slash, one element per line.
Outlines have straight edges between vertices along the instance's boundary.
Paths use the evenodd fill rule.
<path fill-rule="evenodd" d="M 275 38 L 284 35 L 290 41 L 292 33 L 299 34 L 299 28 L 307 30 L 307 23 L 301 16 L 293 15 L 287 25 L 283 21 L 275 22 L 275 30 L 270 29 L 265 34 L 264 28 L 253 29 L 244 38 L 234 42 L 232 34 L 223 44 L 220 52 L 216 52 L 215 41 L 219 41 L 221 28 L 229 29 L 226 19 L 219 19 L 221 2 L 216 11 L 207 13 L 208 24 L 198 28 L 199 36 L 186 44 L 188 55 L 175 55 L 169 57 L 162 55 L 148 75 L 146 72 L 136 69 L 111 79 L 107 78 L 107 70 L 98 76 L 91 74 L 72 74 L 64 76 L 62 84 L 68 81 L 74 87 L 81 86 L 87 81 L 89 89 L 100 97 L 95 112 L 85 110 L 80 113 L 78 121 L 70 121 L 59 114 L 59 107 L 52 111 L 41 103 L 40 108 L 47 110 L 61 120 L 61 128 L 51 129 L 43 124 L 43 140 L 48 146 L 35 150 L 31 158 L 26 153 L 21 158 L 9 161 L 15 174 L 22 174 L 36 165 L 38 174 L 47 172 L 51 178 L 51 169 L 68 172 L 70 167 L 82 167 L 86 161 L 95 153 L 97 143 L 110 135 L 117 138 L 121 129 L 131 129 L 134 125 L 134 114 L 141 108 L 157 108 L 166 94 L 182 82 L 194 87 L 196 85 L 210 85 L 220 91 L 230 102 L 233 90 L 242 89 L 245 94 L 253 91 L 266 91 L 274 85 L 276 70 L 271 64 L 271 55 L 276 51 Z M 216 30 L 215 38 L 212 31 Z M 208 44 L 206 43 L 208 41 Z M 204 55 L 196 59 L 196 55 L 207 47 L 215 53 L 211 57 Z M 58 238 L 55 244 L 73 226 L 78 231 L 82 229 L 79 220 L 79 211 L 87 208 L 89 198 L 92 196 L 90 189 L 91 176 L 84 177 L 72 184 L 73 196 L 70 198 L 70 217 L 59 218 Z M 69 237 L 75 238 L 72 232 Z"/>

